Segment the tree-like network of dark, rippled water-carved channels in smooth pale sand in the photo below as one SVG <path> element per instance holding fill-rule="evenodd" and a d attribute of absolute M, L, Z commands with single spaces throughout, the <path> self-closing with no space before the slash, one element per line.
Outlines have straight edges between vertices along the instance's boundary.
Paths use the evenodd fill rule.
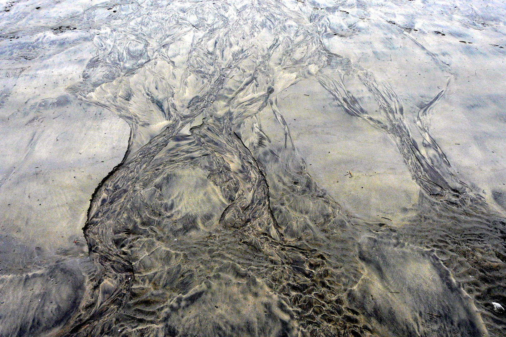
<path fill-rule="evenodd" d="M 91 263 L 77 268 L 86 280 L 64 289 L 79 294 L 77 309 L 63 308 L 56 332 L 39 323 L 45 309 L 27 312 L 30 329 L 13 325 L 6 336 L 503 333 L 489 302 L 504 299 L 504 220 L 430 134 L 448 65 L 413 42 L 449 78 L 414 106 L 329 49 L 330 37 L 360 29 L 343 35 L 333 23 L 349 14 L 343 4 L 117 6 L 68 88 L 131 128 L 122 163 L 91 200 Z M 406 224 L 347 216 L 310 176 L 278 107 L 279 93 L 302 80 L 331 95 L 335 114 L 395 143 L 420 188 Z M 0 281 L 30 287 L 44 275 Z"/>

